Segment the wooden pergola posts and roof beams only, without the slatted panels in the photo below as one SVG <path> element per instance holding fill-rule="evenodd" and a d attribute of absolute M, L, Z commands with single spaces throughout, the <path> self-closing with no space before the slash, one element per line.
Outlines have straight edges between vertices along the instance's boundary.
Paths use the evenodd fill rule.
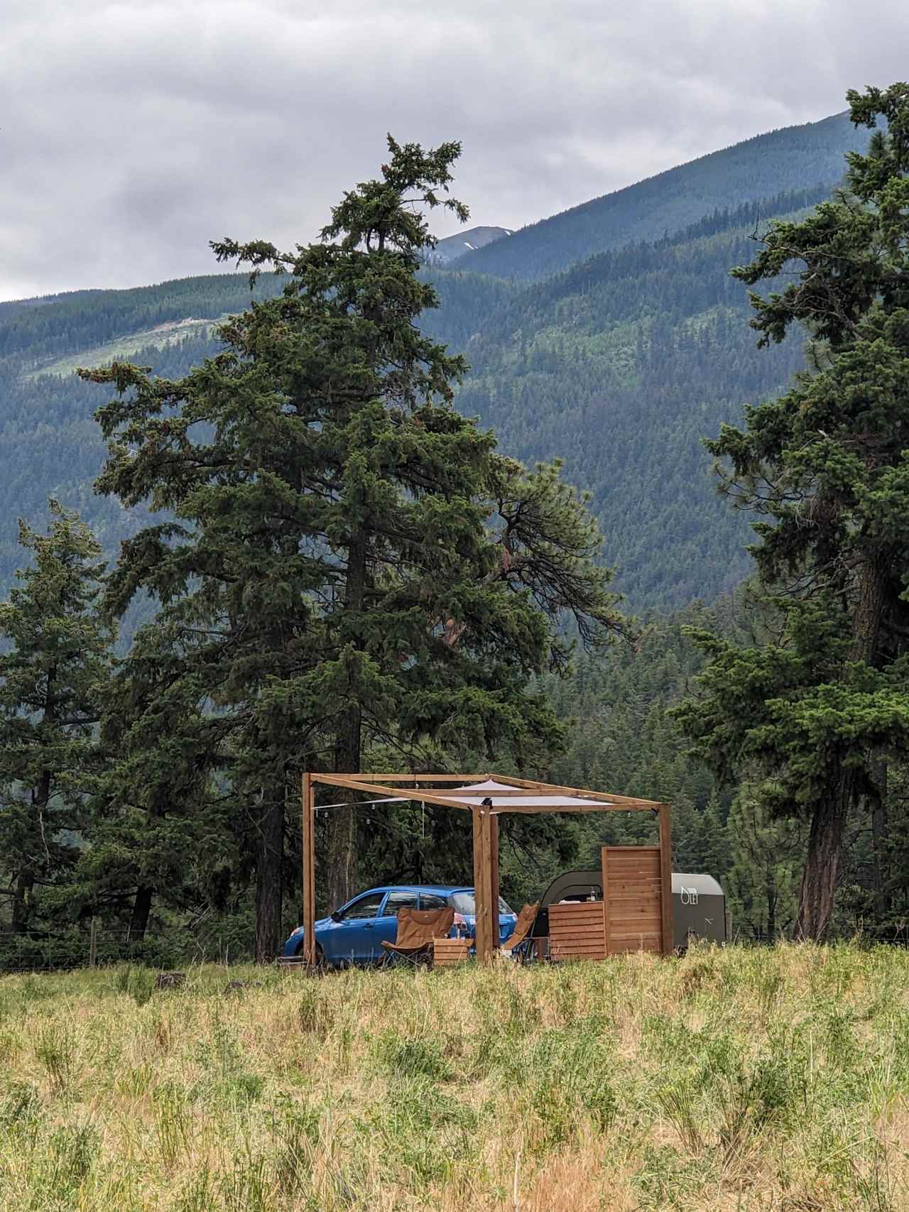
<path fill-rule="evenodd" d="M 507 774 L 321 774 L 303 776 L 303 949 L 315 964 L 315 784 L 362 791 L 371 804 L 383 799 L 438 804 L 468 811 L 474 827 L 476 956 L 488 962 L 498 948 L 498 818 L 504 812 L 654 812 L 659 818 L 659 911 L 662 953 L 671 953 L 671 868 L 669 805 L 584 788 L 513 778 Z M 447 791 L 447 794 L 446 794 Z M 351 806 L 355 807 L 355 804 Z M 631 852 L 653 847 L 622 847 Z M 627 861 L 627 859 L 625 859 Z M 605 864 L 605 859 L 604 859 Z M 629 876 L 633 880 L 633 876 Z M 634 887 L 633 882 L 628 884 Z M 604 888 L 604 896 L 606 890 Z M 605 910 L 604 910 L 605 911 Z M 608 936 L 608 925 L 606 926 Z"/>

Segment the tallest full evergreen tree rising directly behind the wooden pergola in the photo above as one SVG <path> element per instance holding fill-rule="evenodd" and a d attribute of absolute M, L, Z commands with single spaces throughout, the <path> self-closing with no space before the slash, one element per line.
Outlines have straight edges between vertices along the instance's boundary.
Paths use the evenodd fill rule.
<path fill-rule="evenodd" d="M 418 326 L 425 212 L 447 196 L 456 143 L 389 138 L 381 179 L 345 194 L 319 244 L 224 240 L 219 258 L 288 274 L 282 295 L 221 330 L 225 349 L 179 382 L 90 372 L 102 492 L 176 519 L 124 544 L 109 605 L 162 605 L 160 659 L 215 716 L 256 839 L 259 959 L 279 941 L 285 813 L 318 762 L 361 768 L 381 743 L 511 753 L 559 744 L 533 674 L 564 667 L 566 612 L 595 644 L 623 624 L 600 538 L 558 469 L 526 471 L 451 406 L 465 371 Z M 154 647 L 154 645 L 152 645 Z M 173 659 L 178 652 L 179 659 Z M 333 903 L 354 891 L 353 807 L 331 817 Z"/>

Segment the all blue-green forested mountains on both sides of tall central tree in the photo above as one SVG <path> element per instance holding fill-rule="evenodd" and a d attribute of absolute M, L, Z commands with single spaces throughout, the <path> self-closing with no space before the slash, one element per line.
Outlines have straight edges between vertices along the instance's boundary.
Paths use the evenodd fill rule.
<path fill-rule="evenodd" d="M 701 440 L 738 418 L 744 401 L 778 389 L 802 355 L 797 343 L 756 350 L 745 292 L 728 269 L 753 255 L 755 215 L 794 212 L 829 191 L 812 182 L 822 168 L 839 175 L 851 137 L 841 116 L 761 136 L 634 187 L 634 217 L 601 199 L 453 269 L 427 270 L 442 307 L 424 325 L 473 366 L 458 407 L 494 427 L 508 453 L 564 459 L 567 478 L 593 494 L 606 558 L 638 608 L 710 599 L 745 570 L 748 521 L 715 497 Z M 741 200 L 768 181 L 788 188 Z M 662 236 L 678 227 L 667 219 L 671 190 L 678 221 L 692 206 L 698 215 Z M 718 205 L 704 212 L 708 202 Z M 480 253 L 524 248 L 516 276 L 531 278 L 534 248 L 513 241 L 570 233 L 582 212 L 606 244 L 624 231 L 624 246 L 536 282 L 470 268 Z M 654 228 L 659 239 L 634 239 Z M 558 247 L 572 256 L 567 235 Z M 265 275 L 253 297 L 280 287 Z M 246 275 L 217 274 L 0 304 L 0 584 L 18 559 L 16 518 L 40 519 L 48 494 L 80 509 L 112 553 L 144 521 L 92 496 L 104 456 L 92 413 L 105 395 L 74 367 L 127 356 L 181 376 L 216 350 L 212 322 L 248 302 Z"/>

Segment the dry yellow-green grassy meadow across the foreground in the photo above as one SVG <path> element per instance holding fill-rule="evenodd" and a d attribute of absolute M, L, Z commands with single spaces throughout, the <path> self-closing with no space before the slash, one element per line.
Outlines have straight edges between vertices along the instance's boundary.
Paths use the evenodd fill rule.
<path fill-rule="evenodd" d="M 903 950 L 154 981 L 0 979 L 2 1212 L 909 1208 Z"/>

